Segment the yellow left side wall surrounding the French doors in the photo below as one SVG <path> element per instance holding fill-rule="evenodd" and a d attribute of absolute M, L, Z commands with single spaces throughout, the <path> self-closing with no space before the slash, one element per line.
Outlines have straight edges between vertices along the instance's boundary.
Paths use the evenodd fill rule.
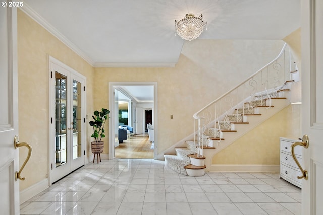
<path fill-rule="evenodd" d="M 21 190 L 48 177 L 48 55 L 87 77 L 87 113 L 93 112 L 93 67 L 18 10 L 19 137 L 33 148 L 32 157 L 22 172 L 26 180 L 20 182 Z M 20 149 L 20 165 L 26 153 Z"/>

